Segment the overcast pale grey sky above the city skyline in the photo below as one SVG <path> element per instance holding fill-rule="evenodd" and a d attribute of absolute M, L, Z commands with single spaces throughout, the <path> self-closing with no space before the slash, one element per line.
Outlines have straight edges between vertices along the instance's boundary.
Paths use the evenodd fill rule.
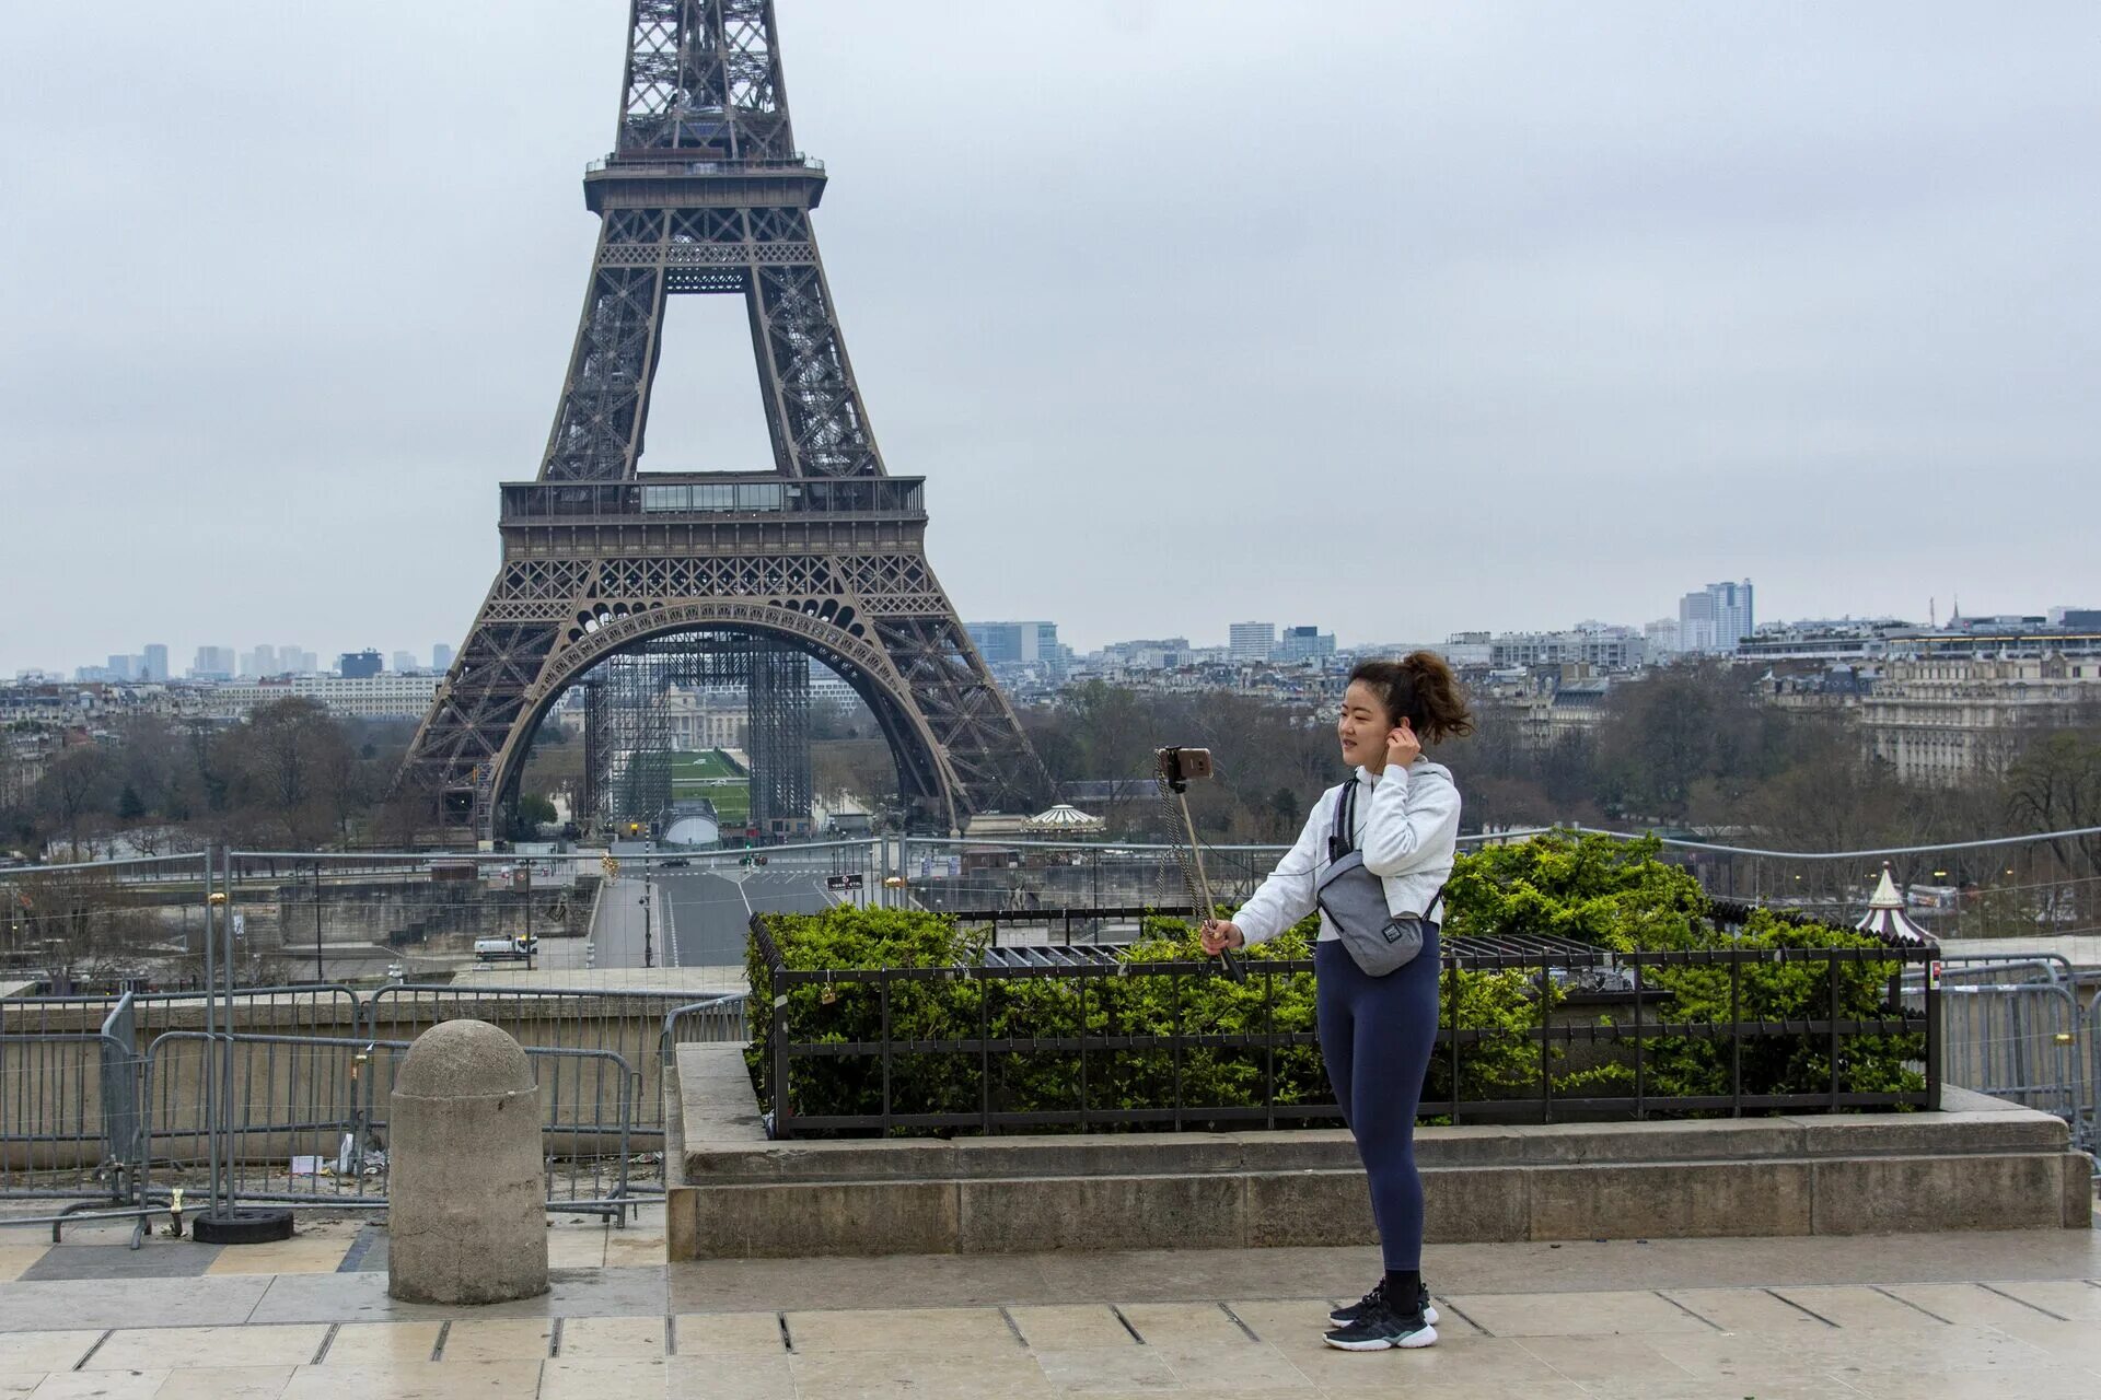
<path fill-rule="evenodd" d="M 779 0 L 969 619 L 2101 604 L 2101 6 Z M 0 674 L 458 642 L 622 0 L 0 6 Z M 765 468 L 677 298 L 645 468 Z"/>

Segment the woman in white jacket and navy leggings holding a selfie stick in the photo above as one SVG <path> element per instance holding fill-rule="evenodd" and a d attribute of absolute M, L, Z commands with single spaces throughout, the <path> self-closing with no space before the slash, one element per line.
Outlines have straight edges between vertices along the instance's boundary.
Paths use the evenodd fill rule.
<path fill-rule="evenodd" d="M 1427 1348 L 1437 1341 L 1437 1310 L 1422 1287 L 1422 1178 L 1416 1173 L 1416 1104 L 1437 1041 L 1439 894 L 1452 875 L 1458 837 L 1458 787 L 1450 770 L 1422 758 L 1424 743 L 1473 730 L 1458 680 L 1443 657 L 1416 651 L 1399 661 L 1366 661 L 1343 693 L 1343 762 L 1357 772 L 1313 804 L 1298 844 L 1231 919 L 1204 926 L 1204 951 L 1216 955 L 1275 938 L 1313 913 L 1336 804 L 1355 789 L 1351 846 L 1380 877 L 1387 909 L 1424 919 L 1422 953 L 1387 976 L 1368 976 L 1322 913 L 1313 949 L 1319 1049 L 1343 1121 L 1372 1180 L 1372 1219 L 1385 1278 L 1351 1308 L 1328 1314 L 1328 1345 L 1347 1352 Z M 1345 808 L 1349 812 L 1349 808 Z"/>

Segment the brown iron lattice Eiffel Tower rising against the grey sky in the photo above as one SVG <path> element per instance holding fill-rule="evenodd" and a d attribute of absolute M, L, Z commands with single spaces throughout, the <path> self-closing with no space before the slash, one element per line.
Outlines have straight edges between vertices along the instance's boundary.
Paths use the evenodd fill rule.
<path fill-rule="evenodd" d="M 502 485 L 502 563 L 401 789 L 492 840 L 548 705 L 656 638 L 790 646 L 868 703 L 908 825 L 956 831 L 1048 783 L 927 563 L 924 479 L 891 476 L 853 382 L 771 0 L 632 0 L 620 130 L 584 174 L 590 290 L 534 481 Z M 771 470 L 641 474 L 664 298 L 737 294 Z"/>

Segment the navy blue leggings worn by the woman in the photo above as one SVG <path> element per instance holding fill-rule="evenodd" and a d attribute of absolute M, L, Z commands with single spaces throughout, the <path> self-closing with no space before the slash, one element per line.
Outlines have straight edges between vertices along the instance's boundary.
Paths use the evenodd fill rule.
<path fill-rule="evenodd" d="M 1437 930 L 1399 972 L 1366 976 L 1349 949 L 1313 949 L 1319 1054 L 1357 1157 L 1372 1178 L 1372 1219 L 1389 1272 L 1422 1268 L 1422 1178 L 1416 1104 L 1437 1045 Z"/>

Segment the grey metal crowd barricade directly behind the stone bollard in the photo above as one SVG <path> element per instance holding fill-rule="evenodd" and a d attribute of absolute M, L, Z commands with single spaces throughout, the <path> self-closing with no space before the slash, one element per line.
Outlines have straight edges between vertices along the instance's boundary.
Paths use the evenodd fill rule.
<path fill-rule="evenodd" d="M 216 1110 L 235 1201 L 387 1205 L 387 1112 L 410 1041 L 170 1031 L 147 1052 L 147 1169 L 168 1184 L 202 1180 L 214 1039 L 231 1058 Z M 525 1054 L 540 1083 L 548 1209 L 622 1215 L 632 1196 L 632 1066 L 609 1049 L 527 1045 Z"/>

